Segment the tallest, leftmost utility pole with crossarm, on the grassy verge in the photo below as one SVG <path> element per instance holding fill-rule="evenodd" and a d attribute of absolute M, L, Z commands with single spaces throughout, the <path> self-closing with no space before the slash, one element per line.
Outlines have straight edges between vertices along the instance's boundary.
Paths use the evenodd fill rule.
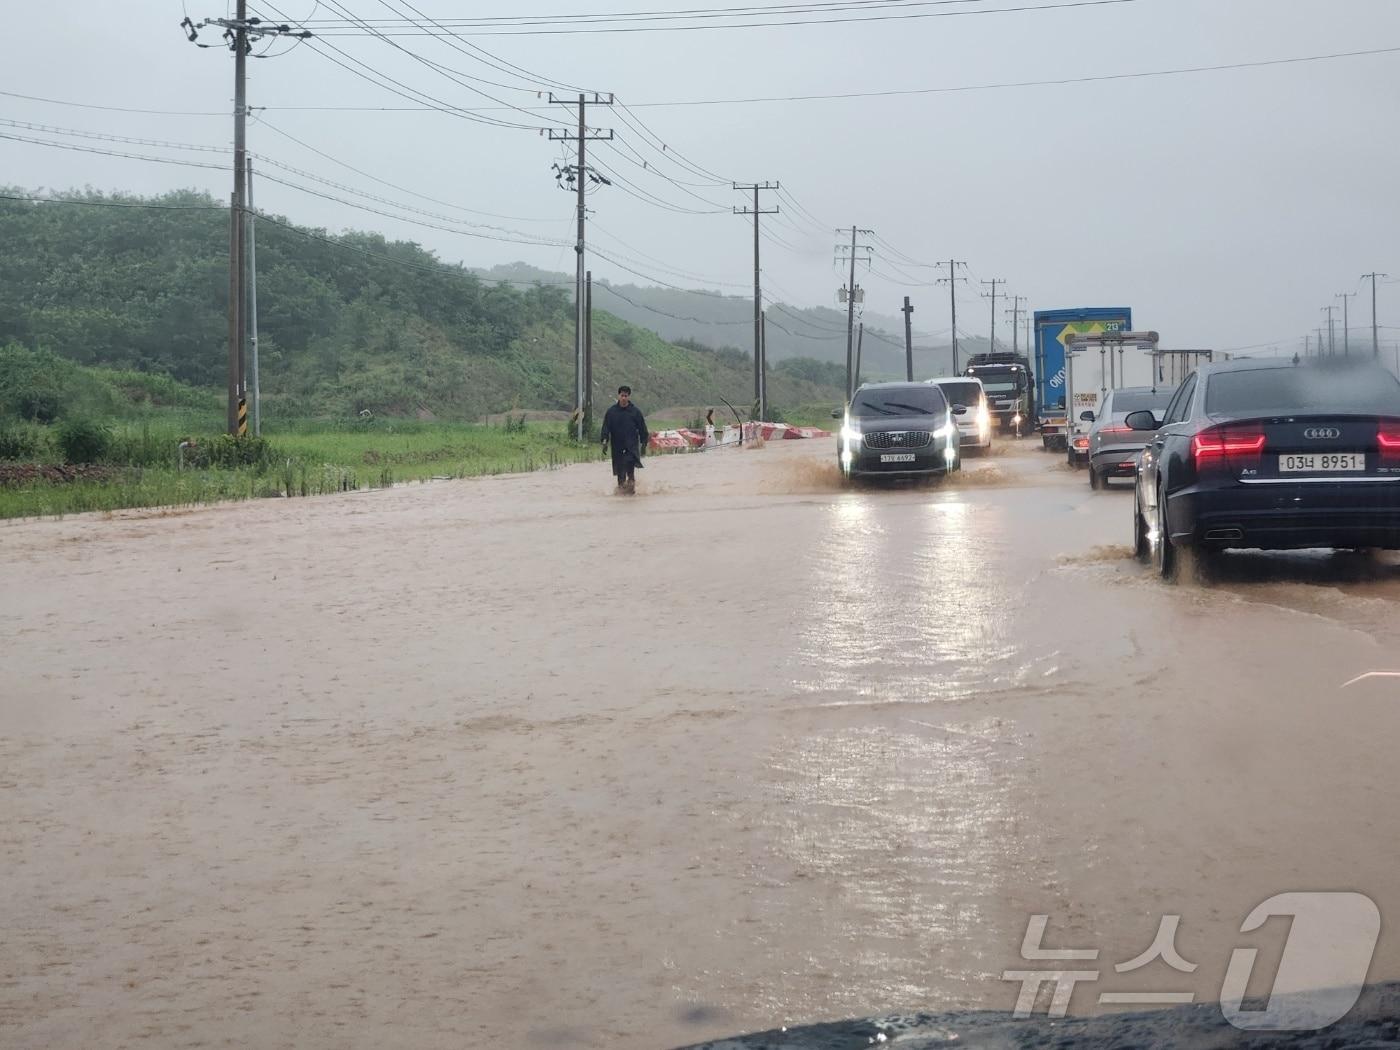
<path fill-rule="evenodd" d="M 234 53 L 234 193 L 230 197 L 228 231 L 228 433 L 248 433 L 248 375 L 244 346 L 248 340 L 248 300 L 244 291 L 246 272 L 245 216 L 248 210 L 248 55 L 253 43 L 267 36 L 307 39 L 305 29 L 273 25 L 248 17 L 248 0 L 238 0 L 232 18 L 206 18 L 197 25 L 186 15 L 181 22 L 185 36 L 197 48 L 213 48 L 199 42 L 199 31 L 210 27 L 223 29 L 224 43 Z"/>

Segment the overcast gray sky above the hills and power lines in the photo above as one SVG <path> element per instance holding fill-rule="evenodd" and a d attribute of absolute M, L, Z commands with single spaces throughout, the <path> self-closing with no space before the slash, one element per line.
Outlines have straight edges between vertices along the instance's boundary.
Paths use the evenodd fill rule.
<path fill-rule="evenodd" d="M 969 0 L 879 13 L 941 14 L 1053 1 Z M 186 4 L 196 21 L 227 13 L 223 0 Z M 735 0 L 414 4 L 434 18 L 463 18 L 732 7 Z M 399 0 L 336 0 L 333 6 L 276 0 L 253 3 L 252 8 L 293 18 L 409 13 Z M 123 6 L 119 15 L 112 4 L 98 0 L 27 6 L 10 21 L 22 32 L 6 34 L 0 43 L 0 90 L 92 105 L 223 115 L 111 112 L 0 95 L 0 116 L 227 147 L 231 56 L 188 43 L 178 28 L 182 17 L 185 6 L 178 0 L 140 0 Z M 559 126 L 573 119 L 564 108 L 545 105 L 522 90 L 519 74 L 490 69 L 438 39 L 393 39 L 430 62 L 507 84 L 479 87 L 529 111 L 487 109 L 482 116 Z M 1400 53 L 1109 83 L 654 105 L 951 88 L 1400 48 L 1400 4 L 1390 0 L 1130 0 L 1072 10 L 834 25 L 479 34 L 469 41 L 542 78 L 615 91 L 631 106 L 633 119 L 706 171 L 727 179 L 781 181 L 784 190 L 819 220 L 813 223 L 787 200 L 764 195 L 764 206 L 777 202 L 783 207 L 770 228 L 787 242 L 764 244 L 766 291 L 797 305 L 833 304 L 841 277 L 833 267 L 829 227 L 851 223 L 875 230 L 906 256 L 892 258 L 883 244 L 878 245 L 878 272 L 860 279 L 868 307 L 895 312 L 910 294 L 920 328 L 928 332 L 948 328 L 946 291 L 897 283 L 935 276 L 909 259 L 970 263 L 966 276 L 972 283 L 960 291 L 959 316 L 959 328 L 969 332 L 984 333 L 990 319 L 979 281 L 1002 277 L 1033 309 L 1128 305 L 1138 328 L 1162 332 L 1172 346 L 1221 349 L 1275 342 L 1285 350 L 1301 347 L 1303 333 L 1326 322 L 1323 305 L 1340 305 L 1333 298 L 1337 293 L 1362 287 L 1361 273 L 1382 270 L 1400 277 L 1400 196 L 1394 192 L 1400 141 L 1392 126 L 1400 109 Z M 217 43 L 216 32 L 206 31 L 202 42 Z M 251 62 L 249 102 L 266 106 L 251 125 L 251 150 L 427 211 L 535 238 L 571 239 L 573 199 L 556 188 L 550 171 L 561 157 L 560 146 L 536 130 L 491 127 L 435 111 L 298 109 L 413 105 L 333 64 L 326 55 L 332 45 L 449 108 L 497 105 L 384 39 L 326 35 L 291 50 L 276 46 L 274 57 Z M 718 209 L 745 203 L 731 189 L 704 185 L 704 178 L 662 158 L 616 112 L 595 112 L 591 125 L 619 132 L 616 146 L 596 150 L 598 162 L 633 188 L 672 206 L 704 211 L 713 206 L 686 190 Z M 224 161 L 217 153 L 80 140 L 10 126 L 0 133 Z M 372 182 L 307 147 L 402 189 Z M 627 147 L 666 175 L 700 185 L 680 188 L 641 169 L 627 160 Z M 91 185 L 154 193 L 196 186 L 220 199 L 230 190 L 228 176 L 214 169 L 7 139 L 0 139 L 0 182 L 31 189 Z M 286 171 L 269 167 L 267 172 L 398 214 L 393 206 L 351 197 Z M 567 246 L 517 245 L 421 228 L 269 181 L 259 181 L 256 203 L 304 224 L 414 239 L 444 259 L 472 266 L 517 259 L 560 270 L 573 266 Z M 455 210 L 463 207 L 512 218 Z M 637 270 L 686 287 L 736 294 L 752 287 L 752 228 L 745 218 L 664 210 L 622 185 L 599 189 L 591 207 L 598 246 L 634 260 Z M 596 274 L 637 280 L 605 259 L 591 262 Z M 1382 284 L 1379 298 L 1382 323 L 1400 326 L 1400 288 Z M 1352 322 L 1369 325 L 1369 291 L 1352 300 Z M 1340 314 L 1337 330 L 1340 340 Z M 1382 337 L 1393 343 L 1400 329 Z"/>

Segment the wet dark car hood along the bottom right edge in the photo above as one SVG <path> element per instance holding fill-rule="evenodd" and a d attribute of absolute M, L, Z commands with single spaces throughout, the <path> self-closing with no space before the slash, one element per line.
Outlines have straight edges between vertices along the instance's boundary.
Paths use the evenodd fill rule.
<path fill-rule="evenodd" d="M 1260 1001 L 1245 1008 L 1263 1009 Z M 934 1050 L 981 1047 L 984 1050 L 1211 1050 L 1222 1047 L 1393 1047 L 1400 1044 L 1400 983 L 1366 987 L 1345 1018 L 1320 1032 L 1243 1032 L 1225 1021 L 1217 1002 L 1175 1009 L 1113 1014 L 1096 1018 L 1016 1019 L 1011 1014 L 963 1011 L 949 1014 L 892 1014 L 860 1021 L 773 1029 L 749 1036 L 696 1043 L 685 1050 Z"/>

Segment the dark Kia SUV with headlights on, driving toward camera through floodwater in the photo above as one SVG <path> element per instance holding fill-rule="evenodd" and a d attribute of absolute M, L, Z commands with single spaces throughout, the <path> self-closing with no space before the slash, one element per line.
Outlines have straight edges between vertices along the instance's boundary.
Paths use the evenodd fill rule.
<path fill-rule="evenodd" d="M 956 416 L 938 386 L 871 382 L 855 391 L 837 444 L 841 475 L 946 475 L 959 469 Z"/>

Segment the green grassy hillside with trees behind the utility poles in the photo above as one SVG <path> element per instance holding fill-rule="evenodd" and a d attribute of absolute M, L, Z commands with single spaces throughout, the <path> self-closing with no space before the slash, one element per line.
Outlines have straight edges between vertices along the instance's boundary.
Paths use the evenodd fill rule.
<path fill-rule="evenodd" d="M 175 379 L 185 384 L 181 396 L 217 403 L 227 353 L 227 209 L 192 192 L 69 199 L 132 207 L 0 202 L 0 346 L 42 347 L 151 382 Z M 493 284 L 414 244 L 284 220 L 258 224 L 258 270 L 270 424 L 361 410 L 472 420 L 571 406 L 574 311 L 566 290 Z M 678 347 L 596 305 L 595 400 L 619 382 L 631 384 L 644 406 L 752 400 L 746 354 Z M 834 402 L 839 389 L 815 372 L 778 372 L 770 400 Z M 97 402 L 70 407 L 119 412 Z M 34 416 L 0 391 L 3 414 Z"/>

